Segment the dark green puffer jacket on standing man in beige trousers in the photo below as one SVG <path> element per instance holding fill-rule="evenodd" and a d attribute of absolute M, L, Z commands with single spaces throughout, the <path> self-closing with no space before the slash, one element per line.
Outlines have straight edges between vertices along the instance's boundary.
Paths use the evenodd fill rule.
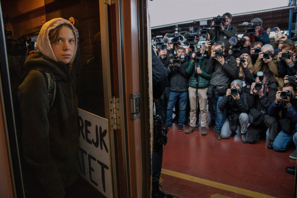
<path fill-rule="evenodd" d="M 211 78 L 212 73 L 208 74 L 205 72 L 206 69 L 206 65 L 207 65 L 208 59 L 201 59 L 199 60 L 199 62 L 194 62 L 192 60 L 189 61 L 186 72 L 187 74 L 192 74 L 192 76 L 189 79 L 189 86 L 196 88 L 196 81 L 197 78 L 194 76 L 194 72 L 195 72 L 195 64 L 199 64 L 200 69 L 201 69 L 201 74 L 198 74 L 198 88 L 206 88 L 209 85 L 209 80 Z"/>

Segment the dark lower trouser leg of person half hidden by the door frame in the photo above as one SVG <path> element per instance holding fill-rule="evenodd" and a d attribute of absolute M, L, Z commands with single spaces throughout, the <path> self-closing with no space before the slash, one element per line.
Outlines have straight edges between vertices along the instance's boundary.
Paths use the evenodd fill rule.
<path fill-rule="evenodd" d="M 161 169 L 162 169 L 162 158 L 163 158 L 163 145 L 156 146 L 156 148 L 154 145 L 153 156 L 151 158 L 152 182 L 157 182 L 160 179 Z"/>

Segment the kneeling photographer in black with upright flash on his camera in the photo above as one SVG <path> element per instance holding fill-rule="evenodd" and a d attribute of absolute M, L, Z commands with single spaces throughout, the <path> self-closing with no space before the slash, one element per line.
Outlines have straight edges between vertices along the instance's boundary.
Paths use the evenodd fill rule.
<path fill-rule="evenodd" d="M 266 137 L 266 131 L 269 128 L 270 143 L 267 148 L 273 149 L 273 141 L 278 133 L 278 123 L 275 117 L 268 115 L 268 107 L 275 100 L 275 94 L 275 90 L 268 88 L 268 77 L 264 76 L 263 72 L 258 72 L 256 82 L 252 83 L 247 96 L 250 125 L 247 128 L 246 140 L 249 144 L 254 144 L 260 137 Z"/>

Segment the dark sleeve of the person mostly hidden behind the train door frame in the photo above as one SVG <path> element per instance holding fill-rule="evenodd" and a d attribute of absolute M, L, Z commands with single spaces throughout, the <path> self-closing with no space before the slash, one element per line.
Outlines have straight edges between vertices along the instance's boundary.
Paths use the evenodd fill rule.
<path fill-rule="evenodd" d="M 165 91 L 167 84 L 167 69 L 163 66 L 153 47 L 151 48 L 151 65 L 153 77 L 153 98 L 159 99 Z"/>

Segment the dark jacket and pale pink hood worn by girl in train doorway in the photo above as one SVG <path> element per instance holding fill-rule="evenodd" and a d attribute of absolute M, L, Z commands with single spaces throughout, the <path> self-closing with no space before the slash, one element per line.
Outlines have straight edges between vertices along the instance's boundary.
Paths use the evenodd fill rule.
<path fill-rule="evenodd" d="M 30 72 L 18 87 L 23 124 L 20 157 L 26 195 L 62 198 L 64 187 L 74 183 L 77 178 L 75 67 L 69 72 L 69 64 L 72 65 L 75 58 L 77 36 L 75 33 L 75 52 L 69 64 L 57 61 L 48 39 L 49 31 L 62 23 L 69 22 L 56 18 L 42 26 L 36 44 L 39 53 L 26 59 L 25 66 Z M 42 72 L 32 70 L 35 68 L 41 68 L 58 79 L 51 108 L 45 77 Z"/>

